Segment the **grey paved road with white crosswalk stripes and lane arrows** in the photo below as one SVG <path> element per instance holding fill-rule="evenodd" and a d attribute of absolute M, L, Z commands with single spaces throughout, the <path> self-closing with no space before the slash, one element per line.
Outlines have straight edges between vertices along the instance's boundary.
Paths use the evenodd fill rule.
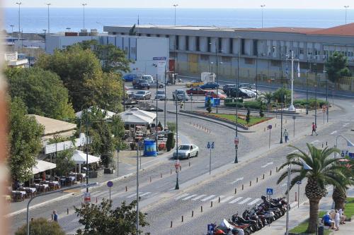
<path fill-rule="evenodd" d="M 167 94 L 176 87 L 168 86 Z M 303 95 L 299 93 L 299 95 Z M 154 95 L 153 95 L 154 97 Z M 202 98 L 202 97 L 200 97 Z M 330 123 L 322 125 L 319 123 L 319 135 L 309 135 L 309 125 L 314 116 L 299 116 L 297 119 L 297 136 L 292 138 L 292 145 L 304 148 L 306 143 L 313 143 L 321 147 L 322 143 L 333 145 L 336 135 L 342 134 L 353 137 L 353 100 L 335 99 L 335 103 L 341 108 L 336 112 L 330 113 Z M 164 102 L 159 102 L 159 107 Z M 200 104 L 192 104 L 196 109 Z M 185 107 L 188 109 L 188 104 Z M 167 102 L 167 109 L 174 110 L 173 102 Z M 167 121 L 175 121 L 174 114 L 166 114 Z M 164 113 L 159 112 L 159 119 L 163 123 Z M 290 118 L 288 118 L 290 119 Z M 188 140 L 200 147 L 199 157 L 181 161 L 182 171 L 179 176 L 180 190 L 175 191 L 176 174 L 171 174 L 173 169 L 173 159 L 167 156 L 161 159 L 156 165 L 139 172 L 139 195 L 141 196 L 140 208 L 147 212 L 149 227 L 144 231 L 152 234 L 202 234 L 206 231 L 206 224 L 209 222 L 221 222 L 222 218 L 231 217 L 236 211 L 243 212 L 246 207 L 259 203 L 261 195 L 265 194 L 265 188 L 274 188 L 276 197 L 285 193 L 285 184 L 276 185 L 276 180 L 280 172 L 275 173 L 275 168 L 285 162 L 285 155 L 292 152 L 291 147 L 279 145 L 279 128 L 274 130 L 271 135 L 272 148 L 268 149 L 268 133 L 256 131 L 256 133 L 239 133 L 239 164 L 234 164 L 234 131 L 230 128 L 213 124 L 209 121 L 202 121 L 186 116 L 178 117 L 178 131 L 181 135 L 188 136 Z M 210 133 L 203 131 L 193 124 L 205 126 L 210 129 Z M 287 122 L 287 128 L 291 130 L 292 122 Z M 187 141 L 187 140 L 183 140 Z M 215 150 L 212 150 L 212 174 L 209 175 L 209 157 L 210 151 L 206 149 L 208 141 L 215 142 Z M 340 143 L 340 147 L 344 147 Z M 273 174 L 270 176 L 270 170 Z M 161 178 L 162 174 L 162 178 Z M 263 178 L 265 174 L 265 179 Z M 151 177 L 151 182 L 150 182 Z M 258 177 L 258 183 L 256 178 Z M 252 181 L 252 186 L 249 186 Z M 244 184 L 244 191 L 241 185 Z M 125 192 L 125 186 L 128 191 Z M 304 183 L 302 184 L 304 186 Z M 113 205 L 118 206 L 125 200 L 130 202 L 135 199 L 136 178 L 132 176 L 122 179 L 115 183 L 112 188 L 111 198 Z M 236 195 L 234 189 L 236 188 Z M 303 192 L 300 188 L 300 192 Z M 290 193 L 294 201 L 295 189 Z M 304 195 L 300 193 L 300 200 L 304 200 Z M 101 200 L 108 198 L 108 188 L 100 186 L 91 190 L 91 197 L 97 197 Z M 221 203 L 218 203 L 218 200 Z M 48 199 L 46 199 L 48 200 Z M 59 224 L 69 234 L 80 226 L 74 214 L 73 206 L 79 207 L 83 201 L 81 193 L 71 195 L 64 200 L 57 200 L 40 205 L 43 201 L 35 199 L 33 205 L 37 205 L 30 210 L 30 217 L 45 217 L 50 219 L 52 210 L 59 212 Z M 213 201 L 213 207 L 210 207 L 210 201 Z M 203 212 L 200 212 L 200 206 L 203 206 Z M 67 214 L 69 208 L 69 215 Z M 191 217 L 192 210 L 195 212 Z M 181 216 L 184 222 L 181 222 Z M 25 223 L 25 213 L 20 213 L 11 217 L 11 232 Z M 173 228 L 170 223 L 173 221 Z"/>

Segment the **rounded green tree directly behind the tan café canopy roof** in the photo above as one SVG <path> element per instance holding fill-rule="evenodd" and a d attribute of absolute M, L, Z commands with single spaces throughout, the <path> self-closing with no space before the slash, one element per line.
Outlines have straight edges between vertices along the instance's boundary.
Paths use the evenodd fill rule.
<path fill-rule="evenodd" d="M 20 97 L 29 114 L 52 119 L 74 118 L 67 88 L 59 76 L 41 68 L 7 68 L 8 92 Z"/>

